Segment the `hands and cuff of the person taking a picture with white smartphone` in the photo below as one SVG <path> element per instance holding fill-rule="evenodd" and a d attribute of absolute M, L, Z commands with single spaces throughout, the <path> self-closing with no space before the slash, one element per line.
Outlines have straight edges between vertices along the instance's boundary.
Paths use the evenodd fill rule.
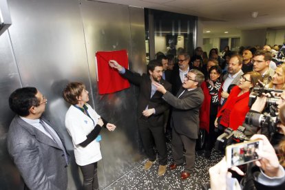
<path fill-rule="evenodd" d="M 279 165 L 274 148 L 266 136 L 256 134 L 251 137 L 251 140 L 255 139 L 262 140 L 263 148 L 256 151 L 261 159 L 255 161 L 255 165 L 260 169 L 253 172 L 253 189 L 285 189 L 285 171 Z M 232 167 L 231 169 L 240 175 L 244 175 L 237 167 Z M 209 169 L 209 174 L 211 190 L 241 189 L 241 187 L 237 186 L 237 180 L 231 178 L 231 173 L 228 172 L 224 158 Z M 244 187 L 244 189 L 247 189 L 247 187 Z"/>

